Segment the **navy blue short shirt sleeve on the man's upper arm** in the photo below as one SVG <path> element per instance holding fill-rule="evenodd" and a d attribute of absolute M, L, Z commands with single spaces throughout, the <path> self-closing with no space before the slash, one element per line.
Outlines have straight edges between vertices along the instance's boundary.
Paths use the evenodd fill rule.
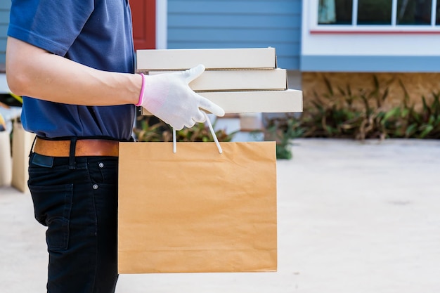
<path fill-rule="evenodd" d="M 93 0 L 13 0 L 8 36 L 65 56 L 93 11 Z"/>

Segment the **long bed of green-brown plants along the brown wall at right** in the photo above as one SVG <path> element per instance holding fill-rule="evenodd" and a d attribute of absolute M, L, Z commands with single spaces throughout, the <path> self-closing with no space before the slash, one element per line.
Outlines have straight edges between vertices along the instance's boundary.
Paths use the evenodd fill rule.
<path fill-rule="evenodd" d="M 324 79 L 327 92 L 314 93 L 311 105 L 302 115 L 285 115 L 268 121 L 266 140 L 277 142 L 277 157 L 290 159 L 293 138 L 440 138 L 440 92 L 432 97 L 422 96 L 420 107 L 410 103 L 403 89 L 402 102 L 389 108 L 386 105 L 389 86 L 394 79 L 380 83 L 373 76 L 370 90 L 352 91 L 351 86 L 336 91 Z"/>

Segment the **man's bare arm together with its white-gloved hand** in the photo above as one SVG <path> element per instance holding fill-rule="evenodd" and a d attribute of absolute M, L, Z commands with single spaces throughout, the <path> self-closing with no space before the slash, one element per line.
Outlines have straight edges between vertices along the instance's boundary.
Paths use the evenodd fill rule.
<path fill-rule="evenodd" d="M 6 46 L 6 78 L 15 94 L 73 105 L 141 105 L 176 130 L 204 122 L 202 110 L 224 115 L 188 86 L 204 70 L 143 77 L 95 70 L 11 37 Z"/>

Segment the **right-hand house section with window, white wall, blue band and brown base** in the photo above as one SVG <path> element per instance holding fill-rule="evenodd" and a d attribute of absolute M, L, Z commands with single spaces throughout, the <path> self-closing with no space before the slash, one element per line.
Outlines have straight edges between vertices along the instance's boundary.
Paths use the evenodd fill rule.
<path fill-rule="evenodd" d="M 440 90 L 440 1 L 302 1 L 299 71 L 304 101 L 334 86 L 372 87 L 373 75 L 389 85 L 389 105 L 404 91 L 420 103 Z M 437 14 L 439 13 L 439 14 Z"/>

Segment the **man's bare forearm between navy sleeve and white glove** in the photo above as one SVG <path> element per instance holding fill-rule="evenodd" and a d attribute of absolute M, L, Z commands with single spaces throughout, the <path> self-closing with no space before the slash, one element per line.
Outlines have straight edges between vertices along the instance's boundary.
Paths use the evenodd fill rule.
<path fill-rule="evenodd" d="M 142 84 L 139 74 L 95 70 L 11 37 L 6 76 L 20 96 L 75 105 L 135 104 Z"/>

